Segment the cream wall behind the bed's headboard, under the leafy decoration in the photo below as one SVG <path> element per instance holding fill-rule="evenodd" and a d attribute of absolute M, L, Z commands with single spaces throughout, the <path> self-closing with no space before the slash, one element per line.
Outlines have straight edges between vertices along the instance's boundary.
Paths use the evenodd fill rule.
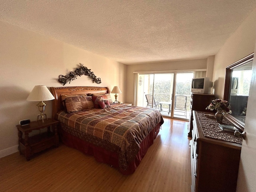
<path fill-rule="evenodd" d="M 79 68 L 79 63 L 102 83 L 81 76 L 65 86 L 107 86 L 111 91 L 118 85 L 122 90 L 118 98 L 125 102 L 126 65 L 4 22 L 0 29 L 0 157 L 17 151 L 19 121 L 36 120 L 39 114 L 38 102 L 26 101 L 34 86 L 61 87 L 58 76 Z M 45 103 L 51 117 L 52 101 Z"/>

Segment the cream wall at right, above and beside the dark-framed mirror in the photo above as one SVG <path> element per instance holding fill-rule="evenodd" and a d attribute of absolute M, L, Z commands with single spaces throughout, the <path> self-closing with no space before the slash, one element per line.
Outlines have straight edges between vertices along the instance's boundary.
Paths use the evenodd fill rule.
<path fill-rule="evenodd" d="M 226 40 L 215 55 L 214 88 L 218 98 L 223 98 L 226 66 L 254 52 L 256 40 L 256 9 L 244 20 L 238 29 Z"/>

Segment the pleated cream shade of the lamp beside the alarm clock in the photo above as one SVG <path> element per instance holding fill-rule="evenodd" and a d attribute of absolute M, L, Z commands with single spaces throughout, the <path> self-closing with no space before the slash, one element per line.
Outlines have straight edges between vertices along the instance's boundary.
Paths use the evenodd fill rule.
<path fill-rule="evenodd" d="M 27 101 L 49 101 L 54 96 L 45 85 L 36 85 L 29 94 Z"/>

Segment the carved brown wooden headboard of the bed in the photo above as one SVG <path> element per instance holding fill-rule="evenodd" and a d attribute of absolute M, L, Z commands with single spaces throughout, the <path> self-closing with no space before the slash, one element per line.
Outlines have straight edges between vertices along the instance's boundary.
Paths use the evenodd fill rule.
<path fill-rule="evenodd" d="M 76 94 L 88 94 L 88 93 L 110 93 L 107 87 L 92 87 L 92 86 L 74 86 L 74 87 L 50 87 L 50 91 L 54 96 L 52 103 L 52 119 L 56 119 L 56 113 L 63 110 L 61 94 L 64 95 L 76 95 Z"/>

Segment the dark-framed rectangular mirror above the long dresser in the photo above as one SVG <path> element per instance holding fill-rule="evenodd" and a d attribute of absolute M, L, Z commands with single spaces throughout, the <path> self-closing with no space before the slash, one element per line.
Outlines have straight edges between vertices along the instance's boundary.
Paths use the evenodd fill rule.
<path fill-rule="evenodd" d="M 226 67 L 223 98 L 230 103 L 232 114 L 225 115 L 225 119 L 241 131 L 246 118 L 253 56 L 254 53 Z"/>

